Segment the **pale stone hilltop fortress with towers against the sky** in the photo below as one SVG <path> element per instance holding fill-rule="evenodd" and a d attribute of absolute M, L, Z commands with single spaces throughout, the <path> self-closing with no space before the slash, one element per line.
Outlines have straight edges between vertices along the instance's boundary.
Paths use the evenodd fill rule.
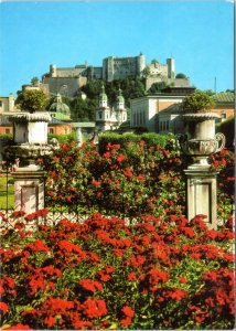
<path fill-rule="evenodd" d="M 112 82 L 129 76 L 143 77 L 146 89 L 159 82 L 176 87 L 190 86 L 189 78 L 175 78 L 174 58 L 167 58 L 165 64 L 160 64 L 158 61 L 146 64 L 146 57 L 140 53 L 138 56 L 106 57 L 103 60 L 103 66 L 93 66 L 87 63 L 75 67 L 50 65 L 50 72 L 42 76 L 41 88 L 49 95 L 60 93 L 74 97 L 88 79 Z"/>

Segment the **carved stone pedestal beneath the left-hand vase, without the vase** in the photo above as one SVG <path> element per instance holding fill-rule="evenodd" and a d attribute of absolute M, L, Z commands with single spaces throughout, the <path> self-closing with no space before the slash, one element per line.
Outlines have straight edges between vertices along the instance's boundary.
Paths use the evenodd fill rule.
<path fill-rule="evenodd" d="M 31 214 L 44 207 L 44 172 L 40 167 L 30 164 L 15 168 L 14 179 L 14 210 Z"/>

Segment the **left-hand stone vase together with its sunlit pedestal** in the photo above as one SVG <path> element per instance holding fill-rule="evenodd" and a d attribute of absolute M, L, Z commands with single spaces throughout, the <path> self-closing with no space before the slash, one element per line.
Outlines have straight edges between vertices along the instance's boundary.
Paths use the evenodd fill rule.
<path fill-rule="evenodd" d="M 11 117 L 14 146 L 6 154 L 15 159 L 14 209 L 26 214 L 44 207 L 44 172 L 35 164 L 36 158 L 50 153 L 47 145 L 47 122 L 51 116 L 45 113 L 21 114 Z"/>

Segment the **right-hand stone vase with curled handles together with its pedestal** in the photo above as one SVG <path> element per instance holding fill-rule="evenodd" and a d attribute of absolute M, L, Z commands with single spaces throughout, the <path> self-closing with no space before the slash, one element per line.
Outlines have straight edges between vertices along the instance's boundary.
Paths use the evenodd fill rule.
<path fill-rule="evenodd" d="M 218 115 L 214 113 L 185 114 L 186 134 L 178 137 L 181 150 L 194 160 L 185 170 L 187 218 L 204 214 L 213 228 L 217 226 L 217 173 L 211 170 L 208 157 L 225 146 L 224 135 L 215 135 L 216 118 Z"/>

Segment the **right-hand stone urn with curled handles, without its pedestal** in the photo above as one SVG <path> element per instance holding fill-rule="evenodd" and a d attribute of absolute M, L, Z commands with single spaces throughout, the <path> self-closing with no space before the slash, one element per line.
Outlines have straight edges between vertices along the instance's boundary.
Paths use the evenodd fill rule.
<path fill-rule="evenodd" d="M 215 113 L 189 113 L 182 115 L 183 135 L 178 135 L 178 143 L 186 156 L 193 157 L 194 166 L 210 167 L 208 157 L 225 146 L 225 136 L 215 134 Z"/>

